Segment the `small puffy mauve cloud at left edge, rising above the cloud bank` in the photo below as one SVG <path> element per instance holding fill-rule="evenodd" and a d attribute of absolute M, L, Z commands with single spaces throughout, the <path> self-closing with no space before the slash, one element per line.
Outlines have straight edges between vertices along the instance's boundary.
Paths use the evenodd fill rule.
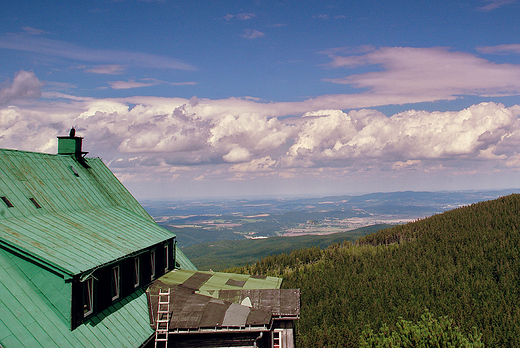
<path fill-rule="evenodd" d="M 0 104 L 25 98 L 39 98 L 43 83 L 32 71 L 19 71 L 13 82 L 0 89 Z"/>

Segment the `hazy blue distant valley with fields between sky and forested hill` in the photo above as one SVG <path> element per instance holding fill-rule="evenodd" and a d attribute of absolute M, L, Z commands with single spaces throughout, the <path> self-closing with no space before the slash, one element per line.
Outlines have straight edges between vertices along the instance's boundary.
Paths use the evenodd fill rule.
<path fill-rule="evenodd" d="M 377 224 L 402 224 L 519 189 L 391 192 L 287 199 L 142 201 L 182 248 L 223 240 L 328 235 Z"/>

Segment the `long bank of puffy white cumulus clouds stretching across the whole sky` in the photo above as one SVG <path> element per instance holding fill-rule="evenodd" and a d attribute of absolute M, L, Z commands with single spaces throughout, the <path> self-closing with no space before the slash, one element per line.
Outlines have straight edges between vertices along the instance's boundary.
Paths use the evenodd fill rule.
<path fill-rule="evenodd" d="M 520 163 L 519 106 L 481 103 L 390 117 L 371 109 L 324 109 L 278 118 L 269 116 L 271 109 L 244 112 L 255 102 L 235 101 L 235 109 L 230 100 L 196 97 L 73 98 L 38 111 L 4 107 L 0 141 L 2 147 L 52 152 L 56 135 L 74 125 L 92 154 L 120 168 L 153 168 L 168 177 L 179 174 L 172 167 L 209 164 L 235 173 L 281 175 L 288 168 L 403 171 L 446 168 L 453 161 Z"/>

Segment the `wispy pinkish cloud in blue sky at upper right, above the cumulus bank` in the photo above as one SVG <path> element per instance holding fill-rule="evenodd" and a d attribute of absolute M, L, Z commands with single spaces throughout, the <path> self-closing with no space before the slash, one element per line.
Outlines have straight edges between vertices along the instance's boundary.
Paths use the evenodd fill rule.
<path fill-rule="evenodd" d="M 381 66 L 383 71 L 327 79 L 368 88 L 375 96 L 448 100 L 459 95 L 520 93 L 519 65 L 496 64 L 444 48 L 384 47 L 364 55 L 331 58 L 332 67 Z"/>

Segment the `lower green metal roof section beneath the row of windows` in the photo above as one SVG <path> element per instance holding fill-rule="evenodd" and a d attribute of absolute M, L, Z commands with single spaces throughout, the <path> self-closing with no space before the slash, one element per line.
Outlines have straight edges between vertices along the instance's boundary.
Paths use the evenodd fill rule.
<path fill-rule="evenodd" d="M 70 331 L 13 258 L 0 248 L 0 346 L 138 347 L 154 333 L 143 290 Z"/>

